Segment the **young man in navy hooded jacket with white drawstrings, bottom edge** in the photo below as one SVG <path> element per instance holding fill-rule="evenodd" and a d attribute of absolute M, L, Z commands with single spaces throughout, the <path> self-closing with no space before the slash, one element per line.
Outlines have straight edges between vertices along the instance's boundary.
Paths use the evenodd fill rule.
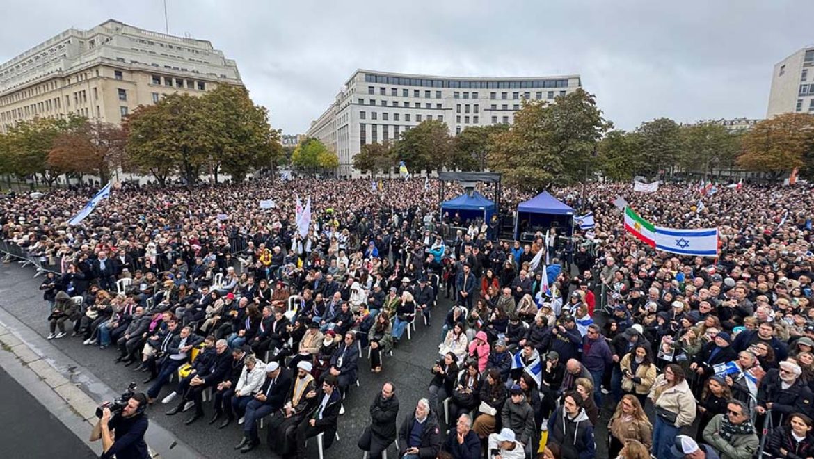
<path fill-rule="evenodd" d="M 583 398 L 578 392 L 567 391 L 562 395 L 562 406 L 549 417 L 548 431 L 548 443 L 560 448 L 562 459 L 596 457 L 593 424 L 585 413 Z"/>

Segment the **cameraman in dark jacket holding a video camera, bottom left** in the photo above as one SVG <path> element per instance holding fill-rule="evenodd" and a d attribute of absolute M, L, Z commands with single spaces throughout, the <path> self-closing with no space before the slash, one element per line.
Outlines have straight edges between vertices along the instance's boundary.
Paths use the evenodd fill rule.
<path fill-rule="evenodd" d="M 147 396 L 139 392 L 127 401 L 119 413 L 112 414 L 103 405 L 102 417 L 96 422 L 90 441 L 102 439 L 102 459 L 148 459 L 150 452 L 144 441 L 147 432 Z M 97 414 L 98 416 L 98 414 Z"/>

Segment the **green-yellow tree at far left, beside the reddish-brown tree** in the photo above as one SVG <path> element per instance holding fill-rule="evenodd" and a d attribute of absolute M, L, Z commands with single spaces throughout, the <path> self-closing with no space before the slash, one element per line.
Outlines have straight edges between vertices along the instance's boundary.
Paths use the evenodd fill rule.
<path fill-rule="evenodd" d="M 40 174 L 48 186 L 53 186 L 56 177 L 64 172 L 48 164 L 48 154 L 53 149 L 54 140 L 61 133 L 72 132 L 83 124 L 84 117 L 73 115 L 67 119 L 34 118 L 20 121 L 8 133 L 9 169 L 18 177 Z"/>

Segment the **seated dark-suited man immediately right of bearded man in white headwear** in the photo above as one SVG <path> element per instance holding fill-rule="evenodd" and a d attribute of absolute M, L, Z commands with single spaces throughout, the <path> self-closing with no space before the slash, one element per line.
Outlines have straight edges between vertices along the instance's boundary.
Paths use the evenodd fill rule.
<path fill-rule="evenodd" d="M 313 397 L 313 402 L 309 403 L 309 411 L 295 429 L 287 431 L 288 444 L 296 445 L 296 457 L 305 459 L 308 451 L 305 449 L 305 440 L 322 435 L 325 448 L 330 448 L 334 442 L 336 434 L 336 422 L 339 419 L 339 406 L 342 404 L 342 396 L 336 387 L 336 377 L 327 375 L 322 381 L 322 388 Z M 286 456 L 286 454 L 283 454 Z"/>

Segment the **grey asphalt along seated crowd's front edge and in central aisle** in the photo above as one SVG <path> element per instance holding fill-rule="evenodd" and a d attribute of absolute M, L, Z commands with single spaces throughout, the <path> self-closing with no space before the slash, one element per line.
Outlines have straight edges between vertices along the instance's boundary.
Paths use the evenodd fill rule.
<path fill-rule="evenodd" d="M 21 268 L 18 264 L 0 264 L 0 308 L 5 309 L 24 322 L 37 334 L 43 337 L 48 334 L 47 305 L 42 300 L 38 290 L 42 278 L 33 278 L 33 269 Z M 449 300 L 440 295 L 438 307 L 433 312 L 434 321 L 431 327 L 424 326 L 423 322 L 416 321 L 416 332 L 413 339 L 402 339 L 393 356 L 385 356 L 382 372 L 370 373 L 370 363 L 366 352 L 359 361 L 360 387 L 352 387 L 347 399 L 344 401 L 345 414 L 339 417 L 339 442 L 330 448 L 326 457 L 361 457 L 357 448 L 357 439 L 361 431 L 370 422 L 369 406 L 381 385 L 387 381 L 395 383 L 396 393 L 400 400 L 399 425 L 401 420 L 414 410 L 418 399 L 427 396 L 427 384 L 430 381 L 432 363 L 438 358 L 438 343 L 440 343 L 440 327 L 442 317 L 451 307 Z M 597 317 L 602 324 L 604 317 Z M 123 391 L 131 381 L 142 386 L 144 373 L 133 372 L 131 367 L 116 365 L 113 360 L 117 356 L 114 348 L 100 350 L 93 346 L 84 346 L 81 339 L 69 338 L 55 340 L 54 342 L 67 356 L 84 366 L 87 371 L 94 374 L 114 391 Z M 2 386 L 0 386 L 2 387 Z M 160 400 L 169 391 L 172 385 L 164 387 L 158 399 Z M 139 387 L 146 391 L 147 387 Z M 606 397 L 606 400 L 610 397 Z M 0 404 L 2 406 L 2 404 Z M 240 442 L 242 431 L 233 424 L 220 431 L 215 426 L 207 424 L 212 414 L 212 407 L 207 404 L 204 408 L 207 416 L 192 426 L 184 425 L 183 421 L 189 413 L 173 417 L 165 416 L 164 412 L 172 405 L 156 404 L 148 410 L 151 422 L 158 422 L 177 438 L 195 448 L 201 457 L 234 457 L 234 445 Z M 2 411 L 2 409 L 0 409 Z M 598 426 L 596 426 L 597 458 L 606 457 L 607 430 L 606 425 L 610 418 L 610 405 L 602 412 Z M 440 415 L 443 423 L 443 413 Z M 240 457 L 269 457 L 269 450 L 265 446 L 265 431 L 260 432 L 264 444 L 260 448 L 247 454 L 238 454 Z M 311 457 L 318 457 L 316 442 L 309 442 Z M 2 450 L 0 450 L 2 452 Z M 395 446 L 390 448 L 394 456 Z M 0 457 L 8 457 L 0 454 Z M 29 456 L 34 457 L 34 456 Z M 274 455 L 272 456 L 274 457 Z"/>

